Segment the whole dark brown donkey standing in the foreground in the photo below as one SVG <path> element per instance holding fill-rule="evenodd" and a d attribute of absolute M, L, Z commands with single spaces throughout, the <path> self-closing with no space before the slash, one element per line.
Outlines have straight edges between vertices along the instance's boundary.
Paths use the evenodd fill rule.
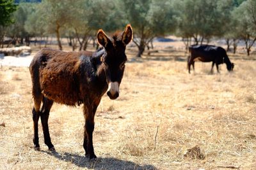
<path fill-rule="evenodd" d="M 114 34 L 111 39 L 100 29 L 97 41 L 103 48 L 97 52 L 62 52 L 44 48 L 36 53 L 29 66 L 35 104 L 32 110 L 35 150 L 40 150 L 39 117 L 44 142 L 49 150 L 55 150 L 48 128 L 49 112 L 54 102 L 69 106 L 83 103 L 85 155 L 90 159 L 96 158 L 92 141 L 95 112 L 106 91 L 110 99 L 119 96 L 127 60 L 125 46 L 131 39 L 132 27 L 127 25 L 124 32 Z"/>

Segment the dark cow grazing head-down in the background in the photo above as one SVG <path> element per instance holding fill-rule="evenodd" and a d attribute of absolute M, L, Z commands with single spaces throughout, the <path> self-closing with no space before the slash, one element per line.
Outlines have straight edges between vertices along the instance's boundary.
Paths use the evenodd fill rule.
<path fill-rule="evenodd" d="M 225 49 L 220 46 L 214 45 L 191 45 L 189 46 L 189 57 L 188 57 L 188 72 L 190 73 L 190 66 L 192 64 L 195 70 L 195 61 L 200 60 L 202 62 L 211 62 L 213 71 L 213 66 L 216 64 L 217 71 L 219 73 L 219 64 L 227 65 L 228 71 L 232 71 L 234 68 L 234 63 L 230 62 Z"/>

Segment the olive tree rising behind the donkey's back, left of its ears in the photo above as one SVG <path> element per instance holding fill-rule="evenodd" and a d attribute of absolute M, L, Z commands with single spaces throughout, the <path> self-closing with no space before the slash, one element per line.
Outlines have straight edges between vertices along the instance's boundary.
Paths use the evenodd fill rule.
<path fill-rule="evenodd" d="M 94 37 L 99 29 L 112 32 L 126 24 L 124 14 L 119 9 L 120 1 L 79 0 L 76 3 L 76 10 L 73 12 L 75 19 L 68 24 L 68 30 L 69 34 L 76 36 L 79 50 L 86 50 L 88 39 L 95 41 Z"/>

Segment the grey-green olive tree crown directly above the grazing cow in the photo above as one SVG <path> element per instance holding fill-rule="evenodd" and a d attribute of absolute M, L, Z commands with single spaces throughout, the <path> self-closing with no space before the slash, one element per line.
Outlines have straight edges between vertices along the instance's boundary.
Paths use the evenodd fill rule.
<path fill-rule="evenodd" d="M 197 41 L 212 36 L 221 36 L 227 28 L 232 0 L 184 0 L 179 6 L 179 32 L 184 38 L 193 37 Z"/>

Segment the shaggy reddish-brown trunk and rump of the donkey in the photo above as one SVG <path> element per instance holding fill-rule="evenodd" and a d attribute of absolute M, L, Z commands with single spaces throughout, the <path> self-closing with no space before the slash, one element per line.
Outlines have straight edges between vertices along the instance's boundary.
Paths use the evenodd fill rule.
<path fill-rule="evenodd" d="M 71 106 L 81 103 L 79 94 L 81 55 L 89 56 L 91 53 L 63 52 L 50 48 L 44 48 L 36 53 L 29 66 L 33 97 L 43 94 L 56 103 Z"/>

